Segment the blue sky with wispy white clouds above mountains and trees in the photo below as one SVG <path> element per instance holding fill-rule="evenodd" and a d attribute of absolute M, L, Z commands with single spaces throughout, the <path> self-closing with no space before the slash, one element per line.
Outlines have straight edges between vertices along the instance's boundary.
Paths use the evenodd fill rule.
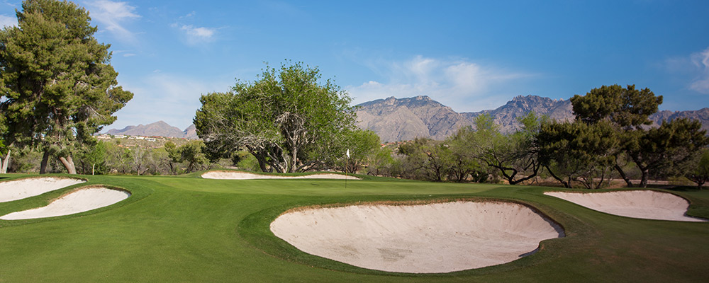
<path fill-rule="evenodd" d="M 21 1 L 1 0 L 0 25 Z M 188 127 L 199 97 L 286 60 L 318 67 L 353 104 L 430 96 L 457 112 L 603 85 L 709 107 L 709 1 L 77 0 L 134 93 L 106 129 Z M 197 3 L 197 4 L 196 4 Z"/>

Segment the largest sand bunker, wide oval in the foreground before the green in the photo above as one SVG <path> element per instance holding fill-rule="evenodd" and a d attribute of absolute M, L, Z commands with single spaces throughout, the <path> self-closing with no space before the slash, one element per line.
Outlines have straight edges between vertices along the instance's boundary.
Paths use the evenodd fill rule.
<path fill-rule="evenodd" d="M 372 270 L 440 273 L 498 265 L 563 236 L 509 202 L 369 204 L 288 212 L 271 231 L 299 250 Z"/>

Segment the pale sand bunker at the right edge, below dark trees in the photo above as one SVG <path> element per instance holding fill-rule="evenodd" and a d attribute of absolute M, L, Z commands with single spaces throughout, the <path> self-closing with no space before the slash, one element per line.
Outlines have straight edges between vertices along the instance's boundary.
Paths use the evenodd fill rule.
<path fill-rule="evenodd" d="M 705 221 L 684 215 L 689 202 L 666 192 L 627 190 L 618 192 L 545 192 L 599 212 L 642 219 Z"/>

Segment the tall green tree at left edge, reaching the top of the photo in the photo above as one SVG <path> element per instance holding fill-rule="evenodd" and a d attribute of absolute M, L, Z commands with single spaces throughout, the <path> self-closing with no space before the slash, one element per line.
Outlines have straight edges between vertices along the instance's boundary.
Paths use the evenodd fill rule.
<path fill-rule="evenodd" d="M 0 111 L 4 140 L 43 151 L 40 173 L 57 156 L 76 173 L 72 155 L 133 98 L 117 86 L 109 45 L 94 38 L 84 8 L 26 0 L 18 26 L 0 30 Z"/>

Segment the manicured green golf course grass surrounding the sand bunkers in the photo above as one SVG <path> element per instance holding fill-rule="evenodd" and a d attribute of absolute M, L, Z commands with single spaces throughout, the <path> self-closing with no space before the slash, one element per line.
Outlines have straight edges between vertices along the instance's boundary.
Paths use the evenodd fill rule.
<path fill-rule="evenodd" d="M 0 181 L 27 175 L 0 175 Z M 91 212 L 0 220 L 0 282 L 707 282 L 709 223 L 630 219 L 542 195 L 549 187 L 348 180 L 206 180 L 199 174 L 81 176 L 133 193 Z M 38 207 L 72 187 L 0 203 Z M 709 191 L 674 192 L 709 218 Z M 565 238 L 504 265 L 440 275 L 352 267 L 301 253 L 269 231 L 287 209 L 383 200 L 495 199 L 552 217 Z"/>

